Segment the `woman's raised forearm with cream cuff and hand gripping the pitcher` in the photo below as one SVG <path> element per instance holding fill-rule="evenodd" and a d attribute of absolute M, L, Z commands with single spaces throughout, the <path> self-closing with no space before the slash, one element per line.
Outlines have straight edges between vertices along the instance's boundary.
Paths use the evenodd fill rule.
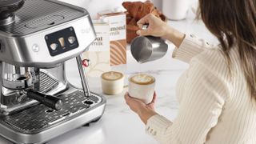
<path fill-rule="evenodd" d="M 166 22 L 162 22 L 162 20 L 156 18 L 153 14 L 146 15 L 146 17 L 138 22 L 140 28 L 144 24 L 149 24 L 148 28 L 146 30 L 138 30 L 138 35 L 152 35 L 169 40 L 176 46 L 173 57 L 183 62 L 189 63 L 191 58 L 213 47 L 210 43 L 196 38 L 193 34 L 183 34 L 175 30 Z"/>

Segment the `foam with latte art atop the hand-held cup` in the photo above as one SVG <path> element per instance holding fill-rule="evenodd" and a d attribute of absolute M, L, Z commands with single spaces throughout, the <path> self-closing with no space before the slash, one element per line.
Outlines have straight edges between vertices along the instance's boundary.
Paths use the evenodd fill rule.
<path fill-rule="evenodd" d="M 138 85 L 150 85 L 151 83 L 154 83 L 155 79 L 149 74 L 137 74 L 131 77 L 130 81 Z"/>

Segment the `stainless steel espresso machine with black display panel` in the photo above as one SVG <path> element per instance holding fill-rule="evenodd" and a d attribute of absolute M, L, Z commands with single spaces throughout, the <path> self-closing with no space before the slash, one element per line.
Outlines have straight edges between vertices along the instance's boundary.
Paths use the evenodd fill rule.
<path fill-rule="evenodd" d="M 0 0 L 0 135 L 44 143 L 97 121 L 106 99 L 91 93 L 80 54 L 96 38 L 90 15 L 56 0 Z M 65 75 L 76 58 L 82 89 Z"/>

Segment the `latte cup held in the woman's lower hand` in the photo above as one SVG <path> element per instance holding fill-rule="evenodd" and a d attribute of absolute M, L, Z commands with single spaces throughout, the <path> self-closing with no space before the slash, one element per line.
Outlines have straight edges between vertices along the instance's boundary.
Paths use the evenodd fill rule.
<path fill-rule="evenodd" d="M 128 93 L 149 104 L 154 96 L 155 78 L 149 74 L 136 74 L 129 78 Z"/>

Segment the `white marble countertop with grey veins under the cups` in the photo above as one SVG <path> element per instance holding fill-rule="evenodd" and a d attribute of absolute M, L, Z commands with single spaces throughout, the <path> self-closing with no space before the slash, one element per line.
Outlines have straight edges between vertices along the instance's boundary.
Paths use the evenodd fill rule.
<path fill-rule="evenodd" d="M 194 20 L 194 14 L 190 13 L 188 18 L 183 21 L 169 22 L 171 26 L 181 30 L 184 33 L 192 33 L 198 37 L 205 38 L 209 42 L 217 42 L 216 39 L 206 30 L 202 22 Z M 138 64 L 131 57 L 130 50 L 127 50 L 127 65 L 115 66 L 113 70 L 122 70 L 126 74 L 126 78 L 130 74 L 143 72 L 152 74 L 156 80 L 156 92 L 158 99 L 156 102 L 156 110 L 159 114 L 174 120 L 178 113 L 178 102 L 175 97 L 175 84 L 179 76 L 188 67 L 186 63 L 179 62 L 171 58 L 174 46 L 170 44 L 168 53 L 162 59 L 146 64 Z M 129 49 L 129 48 L 128 48 Z M 71 83 L 79 86 L 78 70 L 74 60 L 67 62 L 67 76 Z M 127 81 L 126 81 L 127 83 Z M 99 79 L 90 82 L 90 90 L 102 94 Z M 124 90 L 123 94 L 126 92 Z M 100 121 L 90 124 L 88 127 L 79 127 L 66 134 L 62 134 L 58 138 L 52 139 L 47 144 L 156 144 L 154 138 L 145 133 L 145 126 L 134 114 L 123 98 L 123 94 L 114 96 L 106 96 L 106 111 Z M 0 137 L 1 144 L 10 144 L 12 142 Z"/>

